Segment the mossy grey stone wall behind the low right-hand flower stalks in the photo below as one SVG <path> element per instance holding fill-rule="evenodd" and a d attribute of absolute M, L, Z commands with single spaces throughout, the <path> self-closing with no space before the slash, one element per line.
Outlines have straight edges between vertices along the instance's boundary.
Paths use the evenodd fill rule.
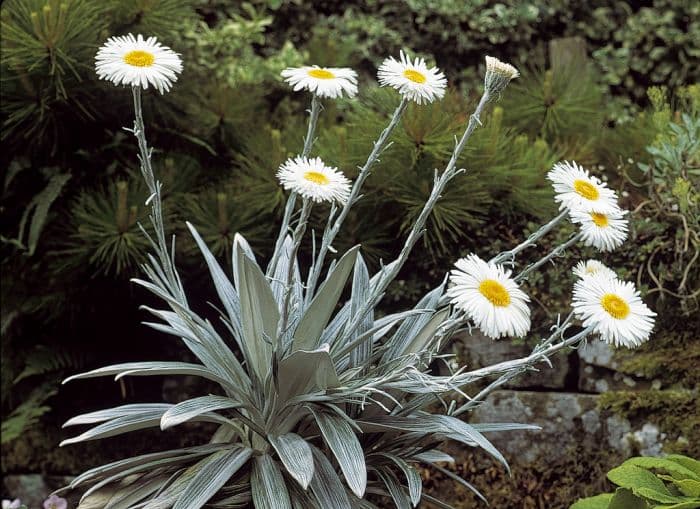
<path fill-rule="evenodd" d="M 494 341 L 478 333 L 455 339 L 460 365 L 476 369 L 527 356 L 531 348 L 508 340 Z M 609 390 L 660 388 L 661 383 L 617 371 L 613 349 L 591 339 L 578 350 L 541 363 L 503 389 L 492 392 L 472 412 L 472 422 L 536 424 L 541 431 L 493 433 L 493 441 L 509 461 L 560 459 L 573 448 L 607 449 L 627 456 L 658 455 L 666 436 L 650 422 L 630 422 L 601 410 L 600 394 Z"/>

